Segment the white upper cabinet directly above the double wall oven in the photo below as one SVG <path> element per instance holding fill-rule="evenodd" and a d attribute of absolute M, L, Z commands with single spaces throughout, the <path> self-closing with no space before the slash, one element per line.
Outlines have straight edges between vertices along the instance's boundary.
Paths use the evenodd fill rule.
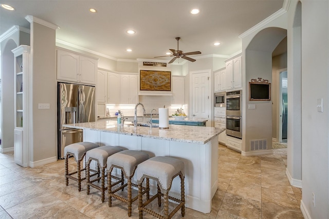
<path fill-rule="evenodd" d="M 241 56 L 233 58 L 226 64 L 226 85 L 225 89 L 230 90 L 242 87 L 242 66 Z"/>

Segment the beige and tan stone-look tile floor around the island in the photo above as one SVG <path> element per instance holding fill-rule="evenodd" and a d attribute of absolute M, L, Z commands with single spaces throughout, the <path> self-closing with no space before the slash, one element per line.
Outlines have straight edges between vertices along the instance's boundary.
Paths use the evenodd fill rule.
<path fill-rule="evenodd" d="M 212 211 L 187 208 L 184 218 L 303 218 L 301 189 L 290 186 L 285 175 L 287 149 L 271 155 L 241 156 L 218 147 L 218 189 Z M 70 169 L 75 167 L 70 162 Z M 75 182 L 65 186 L 64 161 L 35 168 L 16 165 L 13 154 L 0 153 L 0 218 L 129 218 L 126 205 L 101 203 L 98 190 Z M 137 202 L 131 218 L 138 217 Z M 145 214 L 144 218 L 153 218 Z M 173 218 L 181 218 L 178 211 Z"/>

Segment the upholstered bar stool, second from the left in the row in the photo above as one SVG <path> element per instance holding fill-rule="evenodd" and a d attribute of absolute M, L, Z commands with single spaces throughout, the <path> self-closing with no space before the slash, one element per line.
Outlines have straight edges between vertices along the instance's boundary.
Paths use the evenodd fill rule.
<path fill-rule="evenodd" d="M 114 147 L 114 146 L 102 146 L 102 147 L 94 148 L 92 150 L 87 151 L 87 153 L 86 153 L 87 194 L 89 194 L 90 186 L 95 189 L 98 189 L 101 191 L 102 202 L 104 202 L 104 199 L 105 199 L 104 193 L 105 193 L 105 190 L 107 189 L 107 187 L 105 188 L 105 170 L 106 170 L 107 157 L 111 156 L 112 154 L 118 153 L 120 151 L 122 151 L 121 148 Z M 96 161 L 97 167 L 98 167 L 98 172 L 90 175 L 90 171 L 93 171 L 90 169 L 90 163 L 92 161 Z M 90 178 L 96 174 L 98 174 L 98 176 L 94 180 L 90 181 Z M 122 173 L 121 173 L 121 178 L 119 178 L 119 177 L 115 177 L 115 178 L 116 178 L 116 180 L 122 180 L 122 178 L 123 178 Z M 101 186 L 94 184 L 96 181 L 99 182 L 99 180 L 101 180 Z"/>

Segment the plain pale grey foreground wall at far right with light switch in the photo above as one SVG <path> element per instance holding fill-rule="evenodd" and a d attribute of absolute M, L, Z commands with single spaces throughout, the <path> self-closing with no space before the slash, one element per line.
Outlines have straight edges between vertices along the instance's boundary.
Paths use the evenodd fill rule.
<path fill-rule="evenodd" d="M 329 218 L 329 2 L 301 3 L 302 209 L 309 218 Z M 296 4 L 294 1 L 290 5 L 289 28 L 293 26 Z M 294 42 L 288 45 L 289 72 L 295 64 L 290 63 L 294 60 Z M 323 98 L 323 112 L 317 111 L 318 98 Z M 315 207 L 312 193 L 316 196 Z"/>

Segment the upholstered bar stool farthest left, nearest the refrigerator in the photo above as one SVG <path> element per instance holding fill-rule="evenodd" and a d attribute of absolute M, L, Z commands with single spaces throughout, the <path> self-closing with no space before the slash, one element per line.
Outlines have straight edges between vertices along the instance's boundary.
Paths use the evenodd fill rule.
<path fill-rule="evenodd" d="M 65 183 L 66 186 L 68 186 L 68 179 L 77 181 L 78 182 L 78 190 L 81 191 L 81 181 L 85 180 L 86 177 L 81 178 L 81 171 L 85 171 L 86 168 L 81 169 L 81 161 L 83 161 L 83 158 L 86 155 L 86 152 L 89 150 L 92 150 L 94 148 L 98 148 L 99 145 L 91 142 L 79 142 L 67 145 L 64 148 L 64 154 L 65 154 Z M 75 161 L 77 162 L 77 171 L 74 172 L 68 172 L 68 158 L 69 156 L 74 156 Z M 74 177 L 72 175 L 77 173 L 77 177 Z"/>

